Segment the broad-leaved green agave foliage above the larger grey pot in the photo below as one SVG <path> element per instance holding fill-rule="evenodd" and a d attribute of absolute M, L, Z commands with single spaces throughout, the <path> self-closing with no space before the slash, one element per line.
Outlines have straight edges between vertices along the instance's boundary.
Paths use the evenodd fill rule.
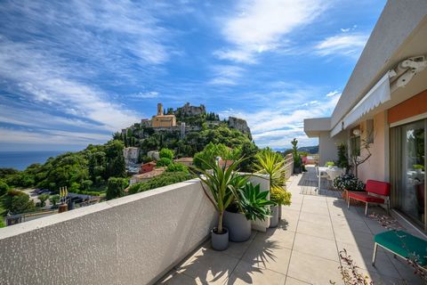
<path fill-rule="evenodd" d="M 246 219 L 264 221 L 270 215 L 270 208 L 267 206 L 273 206 L 275 203 L 267 199 L 269 191 L 261 191 L 260 184 L 246 183 L 238 192 L 238 204 L 243 209 Z"/>

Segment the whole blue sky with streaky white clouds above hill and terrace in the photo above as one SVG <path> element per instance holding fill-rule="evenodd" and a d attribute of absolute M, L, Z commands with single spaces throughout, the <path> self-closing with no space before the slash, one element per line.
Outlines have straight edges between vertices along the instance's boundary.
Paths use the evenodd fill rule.
<path fill-rule="evenodd" d="M 78 150 L 185 102 L 287 148 L 334 110 L 385 1 L 1 1 L 0 150 Z"/>

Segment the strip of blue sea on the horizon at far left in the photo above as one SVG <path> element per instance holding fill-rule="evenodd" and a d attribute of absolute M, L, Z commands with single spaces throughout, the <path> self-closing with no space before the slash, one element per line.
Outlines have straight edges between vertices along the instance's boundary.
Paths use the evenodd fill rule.
<path fill-rule="evenodd" d="M 0 151 L 0 168 L 25 170 L 34 163 L 44 164 L 51 158 L 68 151 Z"/>

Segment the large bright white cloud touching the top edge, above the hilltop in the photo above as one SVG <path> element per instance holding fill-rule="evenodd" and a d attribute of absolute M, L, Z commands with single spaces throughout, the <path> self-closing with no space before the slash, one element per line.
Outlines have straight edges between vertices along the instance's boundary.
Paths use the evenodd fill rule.
<path fill-rule="evenodd" d="M 257 53 L 285 45 L 287 34 L 310 24 L 325 9 L 326 3 L 318 0 L 240 2 L 234 15 L 222 19 L 222 34 L 232 47 L 214 54 L 220 59 L 254 63 Z"/>

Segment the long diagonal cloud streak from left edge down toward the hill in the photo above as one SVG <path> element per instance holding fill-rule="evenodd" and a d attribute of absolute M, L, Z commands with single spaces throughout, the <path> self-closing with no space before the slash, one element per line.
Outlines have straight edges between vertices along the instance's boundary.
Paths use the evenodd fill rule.
<path fill-rule="evenodd" d="M 78 70 L 53 54 L 33 47 L 0 41 L 0 77 L 28 100 L 53 110 L 92 120 L 101 130 L 117 131 L 138 121 L 133 110 L 112 102 L 108 94 L 75 78 Z"/>

